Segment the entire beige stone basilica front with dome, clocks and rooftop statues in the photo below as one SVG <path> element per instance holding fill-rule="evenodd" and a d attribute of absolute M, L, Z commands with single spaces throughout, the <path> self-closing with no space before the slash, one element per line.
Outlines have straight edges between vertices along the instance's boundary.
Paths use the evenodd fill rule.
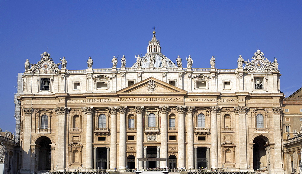
<path fill-rule="evenodd" d="M 90 68 L 68 70 L 44 52 L 24 72 L 18 98 L 21 173 L 166 167 L 138 163 L 143 157 L 167 158 L 171 169 L 284 173 L 277 61 L 258 50 L 251 62 L 240 59 L 244 68 L 183 68 L 181 59 L 176 67 L 155 32 L 136 59 L 131 68 L 112 61 L 95 69 L 90 58 Z"/>

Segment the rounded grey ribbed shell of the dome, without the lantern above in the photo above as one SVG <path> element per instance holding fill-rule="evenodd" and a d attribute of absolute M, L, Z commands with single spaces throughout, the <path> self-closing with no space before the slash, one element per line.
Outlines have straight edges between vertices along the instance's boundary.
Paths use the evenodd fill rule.
<path fill-rule="evenodd" d="M 150 66 L 150 56 L 153 56 L 153 55 L 154 54 L 152 52 L 149 52 L 141 58 L 142 59 L 142 64 L 141 64 L 142 68 L 149 68 L 149 66 Z M 161 59 L 162 59 L 162 53 L 155 53 L 154 68 L 162 68 Z M 135 64 L 133 64 L 131 68 L 137 68 L 137 62 L 135 62 Z M 167 68 L 177 68 L 177 66 L 174 64 L 174 62 L 172 62 L 172 60 L 167 58 Z"/>

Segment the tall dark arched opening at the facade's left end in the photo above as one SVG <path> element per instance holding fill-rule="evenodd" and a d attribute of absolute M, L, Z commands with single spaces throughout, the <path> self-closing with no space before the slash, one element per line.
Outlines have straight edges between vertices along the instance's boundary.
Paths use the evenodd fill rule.
<path fill-rule="evenodd" d="M 39 137 L 36 141 L 36 144 L 39 145 L 38 150 L 35 152 L 36 165 L 38 171 L 41 170 L 50 170 L 51 169 L 51 140 L 48 137 L 42 136 Z"/>

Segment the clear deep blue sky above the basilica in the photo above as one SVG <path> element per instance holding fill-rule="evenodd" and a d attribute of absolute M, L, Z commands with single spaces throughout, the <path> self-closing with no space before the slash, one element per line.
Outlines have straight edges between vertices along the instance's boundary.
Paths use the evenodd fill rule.
<path fill-rule="evenodd" d="M 153 27 L 162 53 L 172 61 L 191 55 L 192 68 L 236 68 L 261 49 L 277 58 L 281 91 L 302 84 L 301 1 L 0 1 L 0 128 L 14 132 L 14 93 L 24 62 L 47 51 L 67 69 L 110 68 L 115 55 L 126 67 L 145 54 Z M 119 57 L 119 59 L 120 59 Z M 120 60 L 117 68 L 120 67 Z"/>

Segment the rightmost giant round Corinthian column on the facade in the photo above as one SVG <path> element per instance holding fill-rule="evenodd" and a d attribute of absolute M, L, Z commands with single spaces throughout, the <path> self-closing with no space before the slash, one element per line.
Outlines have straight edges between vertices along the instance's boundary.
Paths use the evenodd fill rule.
<path fill-rule="evenodd" d="M 210 106 L 211 112 L 211 168 L 218 168 L 218 139 L 217 139 L 217 113 L 221 107 Z"/>

